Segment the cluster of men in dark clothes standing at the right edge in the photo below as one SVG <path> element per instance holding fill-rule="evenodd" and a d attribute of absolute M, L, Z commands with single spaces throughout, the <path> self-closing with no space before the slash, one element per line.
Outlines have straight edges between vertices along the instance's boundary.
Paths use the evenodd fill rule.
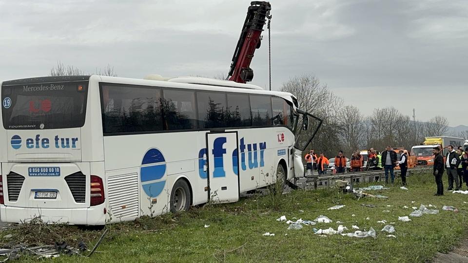
<path fill-rule="evenodd" d="M 468 187 L 468 147 L 463 150 L 463 147 L 458 147 L 457 150 L 453 146 L 447 147 L 447 155 L 443 156 L 439 147 L 434 147 L 434 176 L 437 185 L 437 192 L 434 195 L 444 195 L 444 184 L 442 176 L 444 169 L 448 175 L 448 191 L 455 189 L 460 190 L 463 182 Z M 455 183 L 455 186 L 453 186 Z"/>

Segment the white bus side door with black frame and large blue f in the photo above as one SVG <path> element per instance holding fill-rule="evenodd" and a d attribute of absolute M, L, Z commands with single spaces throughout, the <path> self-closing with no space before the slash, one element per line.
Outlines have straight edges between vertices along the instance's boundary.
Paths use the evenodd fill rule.
<path fill-rule="evenodd" d="M 208 132 L 208 198 L 215 203 L 239 200 L 237 131 Z"/>

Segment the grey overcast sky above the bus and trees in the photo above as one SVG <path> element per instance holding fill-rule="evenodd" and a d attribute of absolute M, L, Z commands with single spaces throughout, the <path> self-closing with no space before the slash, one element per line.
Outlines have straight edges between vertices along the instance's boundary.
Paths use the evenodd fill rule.
<path fill-rule="evenodd" d="M 312 73 L 365 114 L 395 106 L 422 121 L 468 123 L 459 111 L 468 105 L 467 0 L 270 2 L 274 90 Z M 123 77 L 226 74 L 249 5 L 0 0 L 0 79 L 48 75 L 58 60 L 89 72 L 110 64 Z M 262 44 L 252 83 L 268 87 Z"/>

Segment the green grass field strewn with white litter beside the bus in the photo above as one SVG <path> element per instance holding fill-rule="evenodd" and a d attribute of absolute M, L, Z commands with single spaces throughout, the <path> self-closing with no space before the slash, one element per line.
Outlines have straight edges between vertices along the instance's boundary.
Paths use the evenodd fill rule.
<path fill-rule="evenodd" d="M 295 190 L 283 195 L 244 198 L 235 204 L 194 207 L 179 214 L 141 218 L 108 226 L 110 232 L 98 248 L 101 253 L 89 259 L 61 256 L 54 262 L 426 262 L 438 251 L 456 246 L 468 230 L 468 204 L 464 203 L 468 201 L 467 195 L 447 192 L 442 197 L 433 196 L 433 181 L 431 175 L 413 176 L 409 178 L 408 191 L 399 186 L 372 191 L 388 196 L 385 200 L 358 201 L 353 195 L 334 189 Z M 336 205 L 334 202 L 346 206 L 327 210 Z M 421 204 L 436 206 L 440 212 L 411 218 L 411 222 L 398 221 L 398 216 L 408 216 L 411 207 Z M 459 212 L 443 211 L 444 205 L 457 207 Z M 288 230 L 286 223 L 276 221 L 282 215 L 303 220 L 326 215 L 333 223 Z M 377 221 L 381 220 L 395 222 L 396 238 L 380 231 L 384 225 Z M 366 230 L 373 227 L 377 237 L 321 237 L 312 231 L 312 227 L 336 230 L 339 225 L 336 221 L 350 229 L 346 233 L 354 231 L 352 225 Z M 18 231 L 10 230 L 15 235 Z M 86 235 L 84 240 L 89 246 L 99 234 L 73 226 L 53 226 L 51 231 L 69 233 L 70 244 Z M 265 232 L 275 236 L 262 236 Z M 23 261 L 37 260 L 23 257 Z"/>

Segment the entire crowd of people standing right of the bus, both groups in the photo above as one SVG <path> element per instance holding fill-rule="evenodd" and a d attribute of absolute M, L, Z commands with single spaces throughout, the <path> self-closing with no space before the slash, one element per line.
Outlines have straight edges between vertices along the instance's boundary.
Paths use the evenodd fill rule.
<path fill-rule="evenodd" d="M 350 170 L 351 172 L 360 172 L 366 170 L 382 170 L 385 171 L 385 182 L 389 183 L 389 176 L 391 184 L 394 183 L 395 167 L 400 168 L 401 182 L 406 186 L 406 175 L 408 171 L 408 154 L 404 150 L 399 150 L 399 157 L 396 151 L 390 146 L 383 152 L 376 151 L 374 149 L 368 150 L 368 160 L 364 167 L 364 158 L 360 154 L 360 151 L 354 151 L 350 159 Z M 442 156 L 441 149 L 436 147 L 433 150 L 434 153 L 434 176 L 437 184 L 437 193 L 435 195 L 443 195 L 443 184 L 442 175 L 444 169 L 447 170 L 448 175 L 448 189 L 447 190 L 459 190 L 462 188 L 463 182 L 468 187 L 468 148 L 463 150 L 463 147 L 459 147 L 458 150 L 454 150 L 453 146 L 448 146 L 447 156 Z M 305 155 L 306 160 L 306 171 L 307 175 L 312 175 L 314 170 L 318 171 L 318 175 L 327 174 L 327 168 L 330 165 L 330 161 L 324 156 L 323 152 L 320 156 L 317 156 L 314 150 L 311 150 Z M 444 161 L 445 159 L 445 161 Z M 336 173 L 344 173 L 347 169 L 348 159 L 340 150 L 338 155 L 335 156 L 334 168 Z M 455 187 L 453 184 L 455 183 Z"/>

